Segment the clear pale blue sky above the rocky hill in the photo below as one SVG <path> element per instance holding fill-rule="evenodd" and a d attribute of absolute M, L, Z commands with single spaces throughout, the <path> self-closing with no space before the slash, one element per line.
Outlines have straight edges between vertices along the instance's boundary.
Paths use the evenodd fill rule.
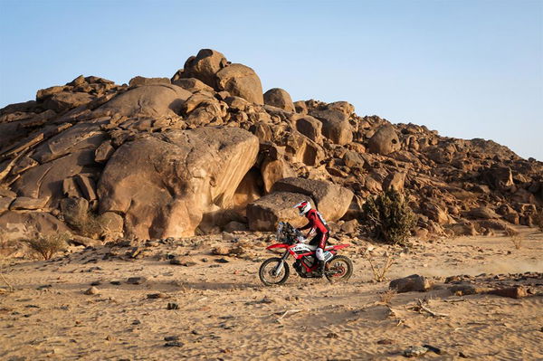
<path fill-rule="evenodd" d="M 201 48 L 294 100 L 543 160 L 543 0 L 0 0 L 0 107 L 79 74 L 170 77 Z"/>

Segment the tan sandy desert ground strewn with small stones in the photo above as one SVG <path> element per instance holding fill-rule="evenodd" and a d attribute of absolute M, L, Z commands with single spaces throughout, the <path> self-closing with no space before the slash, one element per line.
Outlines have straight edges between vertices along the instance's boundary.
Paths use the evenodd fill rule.
<path fill-rule="evenodd" d="M 74 248 L 51 261 L 5 260 L 3 273 L 14 291 L 0 289 L 0 359 L 395 360 L 405 359 L 406 347 L 429 344 L 442 354 L 422 358 L 540 360 L 541 274 L 527 281 L 534 294 L 522 299 L 460 297 L 443 284 L 443 277 L 459 274 L 502 273 L 507 279 L 506 273 L 543 272 L 543 234 L 519 230 L 520 249 L 505 236 L 415 242 L 395 259 L 388 277 L 418 273 L 434 277 L 436 289 L 392 295 L 383 293 L 388 281 L 372 281 L 362 241 L 342 253 L 355 265 L 347 283 L 300 279 L 291 270 L 285 285 L 271 288 L 257 275 L 272 256 L 264 250 L 266 234 Z M 239 256 L 211 253 L 217 245 L 243 244 Z M 376 247 L 376 261 L 385 250 Z M 172 265 L 169 255 L 188 255 L 195 265 Z M 129 284 L 129 277 L 146 280 Z M 92 282 L 99 294 L 85 295 Z M 162 298 L 148 299 L 152 293 Z M 417 299 L 447 316 L 417 310 Z M 167 309 L 168 303 L 179 309 Z"/>

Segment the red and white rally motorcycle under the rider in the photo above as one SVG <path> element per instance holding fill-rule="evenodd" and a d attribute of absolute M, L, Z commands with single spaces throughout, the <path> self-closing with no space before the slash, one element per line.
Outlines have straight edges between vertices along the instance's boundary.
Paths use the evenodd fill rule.
<path fill-rule="evenodd" d="M 289 255 L 296 261 L 292 267 L 301 278 L 322 277 L 319 261 L 315 256 L 317 245 L 306 243 L 307 239 L 291 223 L 280 222 L 277 227 L 277 241 L 266 247 L 267 250 L 284 249 L 281 257 L 272 257 L 262 262 L 259 277 L 266 286 L 281 285 L 287 281 L 291 270 L 286 262 Z M 353 262 L 346 256 L 338 255 L 338 250 L 350 244 L 336 244 L 324 249 L 326 262 L 324 276 L 330 281 L 348 280 L 353 274 Z"/>

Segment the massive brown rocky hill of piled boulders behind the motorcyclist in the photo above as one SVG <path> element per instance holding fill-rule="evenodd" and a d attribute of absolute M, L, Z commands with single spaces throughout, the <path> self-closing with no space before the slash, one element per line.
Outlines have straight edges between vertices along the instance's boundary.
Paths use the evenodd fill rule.
<path fill-rule="evenodd" d="M 359 117 L 347 101 L 264 93 L 251 68 L 208 49 L 171 79 L 81 75 L 0 110 L 5 239 L 271 231 L 300 223 L 291 206 L 302 199 L 355 233 L 367 196 L 388 187 L 406 190 L 419 236 L 500 232 L 534 222 L 543 163 Z"/>

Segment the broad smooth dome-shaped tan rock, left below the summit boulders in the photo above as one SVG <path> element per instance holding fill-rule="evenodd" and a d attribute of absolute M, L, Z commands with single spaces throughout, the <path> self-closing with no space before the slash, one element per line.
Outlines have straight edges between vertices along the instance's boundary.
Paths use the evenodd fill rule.
<path fill-rule="evenodd" d="M 141 85 L 108 101 L 94 115 L 176 117 L 191 96 L 190 91 L 172 84 Z"/>

